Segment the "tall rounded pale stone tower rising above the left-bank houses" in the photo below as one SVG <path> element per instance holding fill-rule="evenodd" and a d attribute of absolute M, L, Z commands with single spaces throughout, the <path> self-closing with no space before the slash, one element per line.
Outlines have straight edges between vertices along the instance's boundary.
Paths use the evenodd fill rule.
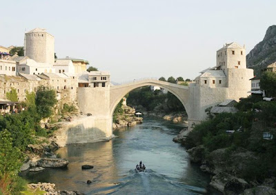
<path fill-rule="evenodd" d="M 55 63 L 55 37 L 44 28 L 25 33 L 25 55 L 39 63 Z"/>

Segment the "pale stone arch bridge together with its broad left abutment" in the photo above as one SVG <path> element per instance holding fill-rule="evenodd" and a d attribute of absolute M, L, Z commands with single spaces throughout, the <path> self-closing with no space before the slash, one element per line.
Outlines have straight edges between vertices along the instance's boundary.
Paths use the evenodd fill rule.
<path fill-rule="evenodd" d="M 94 129 L 94 132 L 103 132 L 106 137 L 112 136 L 112 115 L 115 107 L 121 101 L 121 99 L 128 94 L 131 90 L 140 88 L 143 86 L 155 85 L 160 88 L 164 88 L 171 92 L 181 103 L 184 105 L 186 112 L 188 114 L 188 124 L 189 129 L 193 123 L 199 123 L 200 121 L 206 119 L 205 107 L 201 106 L 199 86 L 191 87 L 191 85 L 177 85 L 174 83 L 168 83 L 166 81 L 159 81 L 155 79 L 144 79 L 140 81 L 132 81 L 130 83 L 125 83 L 122 85 L 112 85 L 108 88 L 78 88 L 77 90 L 77 101 L 79 110 L 83 114 L 92 114 L 87 120 L 90 125 L 83 127 L 85 129 Z M 211 101 L 211 103 L 217 103 L 217 101 Z M 86 121 L 86 124 L 88 121 Z M 89 137 L 91 136 L 89 131 L 84 131 L 86 135 L 81 135 L 75 140 L 83 139 L 88 141 L 82 141 L 83 143 L 90 142 Z M 82 133 L 82 134 L 83 134 Z M 76 141 L 72 141 L 76 143 Z"/>

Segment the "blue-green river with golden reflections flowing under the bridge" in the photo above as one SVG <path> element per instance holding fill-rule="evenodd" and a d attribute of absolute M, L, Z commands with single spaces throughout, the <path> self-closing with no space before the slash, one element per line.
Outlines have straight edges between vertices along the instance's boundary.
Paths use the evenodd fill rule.
<path fill-rule="evenodd" d="M 146 118 L 140 125 L 115 131 L 111 141 L 60 148 L 57 154 L 70 162 L 65 169 L 47 168 L 24 177 L 85 194 L 219 194 L 208 187 L 210 176 L 190 164 L 185 147 L 172 141 L 182 128 Z M 147 172 L 135 172 L 139 161 Z M 81 170 L 86 164 L 94 168 Z"/>

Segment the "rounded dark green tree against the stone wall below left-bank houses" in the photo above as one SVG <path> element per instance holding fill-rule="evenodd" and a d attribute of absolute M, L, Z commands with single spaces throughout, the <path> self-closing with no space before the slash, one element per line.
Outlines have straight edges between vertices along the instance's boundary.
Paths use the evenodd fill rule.
<path fill-rule="evenodd" d="M 52 115 L 52 108 L 56 103 L 57 99 L 54 90 L 50 90 L 45 86 L 38 88 L 35 104 L 37 105 L 37 113 L 42 119 Z"/>

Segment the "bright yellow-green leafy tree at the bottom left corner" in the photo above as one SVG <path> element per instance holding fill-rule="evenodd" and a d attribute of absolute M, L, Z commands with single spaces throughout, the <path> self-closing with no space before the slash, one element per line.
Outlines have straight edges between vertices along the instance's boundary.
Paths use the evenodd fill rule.
<path fill-rule="evenodd" d="M 11 194 L 22 165 L 23 154 L 12 145 L 8 130 L 0 132 L 0 194 Z"/>

